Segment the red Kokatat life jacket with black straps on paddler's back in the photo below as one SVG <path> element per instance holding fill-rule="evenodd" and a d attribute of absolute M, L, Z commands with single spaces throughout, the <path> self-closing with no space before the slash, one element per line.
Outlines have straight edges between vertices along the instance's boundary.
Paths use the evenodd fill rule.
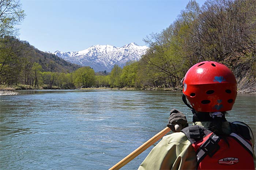
<path fill-rule="evenodd" d="M 231 134 L 225 139 L 198 125 L 181 131 L 188 137 L 197 158 L 197 169 L 254 170 L 253 147 L 249 126 L 230 123 Z"/>

